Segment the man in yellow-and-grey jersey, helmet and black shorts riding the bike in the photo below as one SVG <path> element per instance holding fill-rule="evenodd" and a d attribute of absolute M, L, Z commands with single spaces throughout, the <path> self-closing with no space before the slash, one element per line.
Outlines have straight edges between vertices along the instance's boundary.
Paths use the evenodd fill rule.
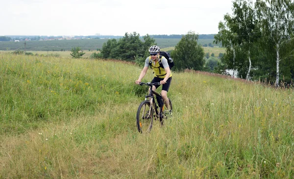
<path fill-rule="evenodd" d="M 138 80 L 135 81 L 136 84 L 139 84 L 141 80 L 144 78 L 148 67 L 151 64 L 151 68 L 153 69 L 154 78 L 151 81 L 151 83 L 160 83 L 162 84 L 162 90 L 161 90 L 161 96 L 164 100 L 164 103 L 168 110 L 170 111 L 170 101 L 167 96 L 171 82 L 172 82 L 172 73 L 168 64 L 168 60 L 164 56 L 160 56 L 161 59 L 159 59 L 159 52 L 160 48 L 159 46 L 152 45 L 149 48 L 149 54 L 150 56 L 147 57 L 145 60 L 145 67 L 140 73 L 140 76 Z M 150 63 L 151 62 L 151 63 Z M 162 63 L 163 68 L 160 67 L 160 63 Z M 159 87 L 159 85 L 153 86 L 152 90 L 156 90 Z"/>

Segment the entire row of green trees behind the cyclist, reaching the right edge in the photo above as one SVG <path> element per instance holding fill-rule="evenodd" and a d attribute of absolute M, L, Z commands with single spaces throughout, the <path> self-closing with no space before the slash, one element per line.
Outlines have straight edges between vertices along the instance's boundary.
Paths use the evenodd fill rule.
<path fill-rule="evenodd" d="M 239 78 L 265 80 L 275 87 L 292 84 L 294 78 L 294 2 L 293 0 L 234 0 L 232 15 L 226 14 L 219 23 L 214 43 L 226 52 L 221 60 L 206 57 L 197 44 L 199 35 L 188 32 L 170 51 L 175 70 L 195 69 L 227 74 L 237 72 Z M 160 35 L 167 37 L 165 35 Z M 131 60 L 144 65 L 148 48 L 156 45 L 154 37 L 144 41 L 136 32 L 125 33 L 123 38 L 109 39 L 102 45 L 99 57 Z M 206 54 L 207 56 L 207 54 Z M 98 57 L 98 55 L 97 55 Z M 235 76 L 235 74 L 234 74 Z"/>

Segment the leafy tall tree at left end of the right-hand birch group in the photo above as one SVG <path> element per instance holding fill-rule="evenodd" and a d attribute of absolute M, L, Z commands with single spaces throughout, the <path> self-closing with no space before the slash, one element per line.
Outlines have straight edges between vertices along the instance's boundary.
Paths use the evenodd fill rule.
<path fill-rule="evenodd" d="M 255 11 L 252 7 L 251 0 L 233 1 L 232 10 L 233 15 L 230 16 L 226 14 L 224 16 L 224 22 L 219 23 L 219 33 L 215 36 L 215 43 L 221 42 L 226 48 L 224 59 L 227 59 L 227 62 L 230 63 L 230 58 L 227 57 L 232 58 L 232 66 L 228 64 L 228 67 L 233 69 L 233 73 L 235 73 L 237 68 L 238 71 L 244 71 L 246 67 L 247 73 L 246 75 L 242 75 L 242 77 L 246 76 L 246 79 L 249 80 L 252 68 L 251 49 L 258 40 L 258 33 L 255 32 Z M 233 51 L 232 53 L 229 52 L 231 50 Z M 241 59 L 244 59 L 244 57 L 248 59 L 248 65 L 243 60 L 236 59 L 236 52 L 243 54 Z M 230 54 L 232 54 L 232 56 Z M 238 73 L 238 76 L 241 74 L 242 73 Z M 235 74 L 233 74 L 233 76 L 235 76 Z"/>

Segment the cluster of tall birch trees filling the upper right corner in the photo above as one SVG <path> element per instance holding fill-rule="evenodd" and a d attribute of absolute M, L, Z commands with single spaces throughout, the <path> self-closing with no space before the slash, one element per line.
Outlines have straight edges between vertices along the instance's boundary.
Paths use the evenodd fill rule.
<path fill-rule="evenodd" d="M 219 23 L 215 43 L 226 48 L 222 71 L 263 79 L 275 87 L 294 78 L 293 0 L 234 0 L 232 15 Z"/>

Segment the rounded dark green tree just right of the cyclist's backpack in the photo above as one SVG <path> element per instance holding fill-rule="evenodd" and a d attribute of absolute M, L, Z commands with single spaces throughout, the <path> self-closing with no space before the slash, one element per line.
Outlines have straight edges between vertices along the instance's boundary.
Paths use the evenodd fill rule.
<path fill-rule="evenodd" d="M 202 70 L 204 65 L 204 50 L 201 45 L 197 45 L 198 35 L 189 31 L 182 36 L 180 42 L 175 45 L 172 51 L 174 68 L 178 70 L 195 69 Z"/>

